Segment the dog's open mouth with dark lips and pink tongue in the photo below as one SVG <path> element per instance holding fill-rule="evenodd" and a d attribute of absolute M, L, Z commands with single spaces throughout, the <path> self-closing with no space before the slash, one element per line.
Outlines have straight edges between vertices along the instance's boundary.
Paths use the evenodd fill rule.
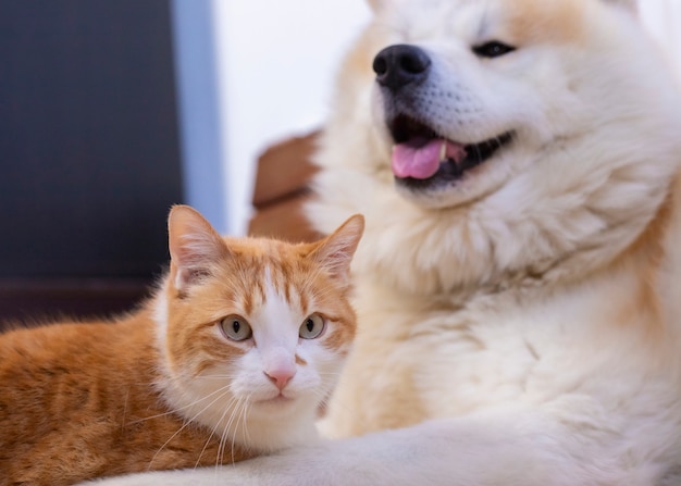
<path fill-rule="evenodd" d="M 491 159 L 502 147 L 511 142 L 507 132 L 479 144 L 463 145 L 448 140 L 431 127 L 406 115 L 388 123 L 395 141 L 392 167 L 395 179 L 411 188 L 451 183 L 467 171 Z"/>

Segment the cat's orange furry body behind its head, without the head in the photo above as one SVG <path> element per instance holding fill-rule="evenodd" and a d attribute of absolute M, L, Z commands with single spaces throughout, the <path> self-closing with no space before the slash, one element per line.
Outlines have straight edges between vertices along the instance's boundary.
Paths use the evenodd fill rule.
<path fill-rule="evenodd" d="M 0 337 L 0 484 L 221 462 L 219 437 L 182 428 L 152 386 L 160 354 L 149 307 L 116 323 Z M 247 457 L 240 446 L 227 452 L 227 461 Z"/>

